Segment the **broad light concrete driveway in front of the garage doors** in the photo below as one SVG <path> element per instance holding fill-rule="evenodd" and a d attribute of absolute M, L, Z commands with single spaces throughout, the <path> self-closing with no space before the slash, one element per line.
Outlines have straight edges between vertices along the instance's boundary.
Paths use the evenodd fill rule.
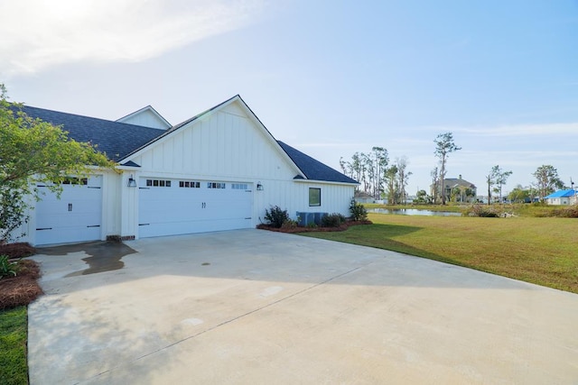
<path fill-rule="evenodd" d="M 34 257 L 33 385 L 578 383 L 571 293 L 261 230 L 126 245 Z"/>

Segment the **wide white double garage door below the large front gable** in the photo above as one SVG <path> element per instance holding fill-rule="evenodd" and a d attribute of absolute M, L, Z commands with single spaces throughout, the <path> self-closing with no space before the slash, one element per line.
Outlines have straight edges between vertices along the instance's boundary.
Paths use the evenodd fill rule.
<path fill-rule="evenodd" d="M 251 227 L 249 183 L 190 179 L 139 180 L 139 236 Z"/>

